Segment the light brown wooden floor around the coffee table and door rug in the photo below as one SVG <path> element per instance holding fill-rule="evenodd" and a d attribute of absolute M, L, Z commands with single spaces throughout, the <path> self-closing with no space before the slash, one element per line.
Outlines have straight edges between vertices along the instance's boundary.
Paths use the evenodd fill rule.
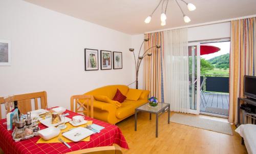
<path fill-rule="evenodd" d="M 227 121 L 223 118 L 197 116 Z M 134 116 L 117 123 L 130 147 L 129 150 L 123 150 L 123 152 L 127 154 L 247 153 L 245 146 L 241 145 L 241 137 L 234 131 L 234 135 L 230 136 L 172 122 L 167 124 L 167 117 L 167 113 L 159 117 L 158 138 L 155 137 L 155 115 L 152 116 L 152 120 L 149 120 L 148 113 L 138 113 L 137 131 L 134 131 Z M 232 126 L 233 130 L 235 128 Z"/>

